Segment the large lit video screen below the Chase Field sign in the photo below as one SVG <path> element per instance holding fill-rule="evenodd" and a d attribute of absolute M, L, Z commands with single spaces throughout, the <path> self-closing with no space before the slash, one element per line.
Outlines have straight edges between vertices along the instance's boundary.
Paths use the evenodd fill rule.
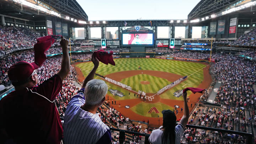
<path fill-rule="evenodd" d="M 153 33 L 123 33 L 123 45 L 153 45 Z"/>

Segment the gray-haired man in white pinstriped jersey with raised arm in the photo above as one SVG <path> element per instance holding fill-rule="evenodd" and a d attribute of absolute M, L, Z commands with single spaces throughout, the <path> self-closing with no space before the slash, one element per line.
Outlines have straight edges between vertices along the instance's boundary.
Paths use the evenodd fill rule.
<path fill-rule="evenodd" d="M 64 118 L 65 144 L 110 144 L 111 132 L 96 114 L 97 108 L 105 102 L 107 84 L 94 79 L 99 61 L 92 54 L 94 68 L 85 78 L 78 93 L 68 103 Z"/>

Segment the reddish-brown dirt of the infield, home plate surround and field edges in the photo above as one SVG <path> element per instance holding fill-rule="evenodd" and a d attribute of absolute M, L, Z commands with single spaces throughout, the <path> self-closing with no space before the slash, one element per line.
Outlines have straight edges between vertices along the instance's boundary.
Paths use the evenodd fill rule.
<path fill-rule="evenodd" d="M 78 64 L 78 63 L 76 63 L 76 64 Z M 201 63 L 201 64 L 207 65 L 206 63 Z M 72 66 L 74 66 L 74 68 L 76 70 L 78 80 L 80 82 L 82 82 L 85 79 L 84 75 L 82 74 L 80 68 L 76 67 L 75 65 L 72 65 Z M 210 76 L 210 73 L 209 73 L 209 67 L 210 66 L 208 65 L 205 68 L 203 68 L 204 79 L 203 79 L 202 83 L 198 86 L 199 88 L 207 89 L 209 87 L 210 83 L 212 82 L 212 77 Z M 156 77 L 159 77 L 159 78 L 164 78 L 164 79 L 167 79 L 171 82 L 175 81 L 179 78 L 182 78 L 181 75 L 171 74 L 171 73 L 162 72 L 162 71 L 153 71 L 153 70 L 120 71 L 120 72 L 108 74 L 108 75 L 105 75 L 105 76 L 108 77 L 108 78 L 114 79 L 116 81 L 121 81 L 124 78 L 128 78 L 130 76 L 134 76 L 134 75 L 138 75 L 138 74 L 142 74 L 142 73 L 152 75 L 152 76 L 156 76 Z M 147 93 L 146 95 L 151 96 L 153 94 Z M 196 106 L 196 103 L 198 102 L 201 95 L 202 94 L 200 94 L 200 93 L 196 93 L 196 94 L 192 93 L 189 96 L 190 102 L 188 102 L 188 106 L 189 106 L 190 112 Z M 111 96 L 109 96 L 109 100 L 111 101 L 111 100 L 115 100 L 115 99 L 112 98 Z M 143 121 L 143 119 L 145 121 L 149 120 L 149 127 L 158 127 L 159 125 L 161 126 L 161 124 L 162 124 L 162 118 L 161 117 L 160 118 L 145 117 L 145 116 L 142 116 L 142 115 L 139 115 L 139 114 L 133 112 L 130 109 L 125 108 L 126 105 L 129 105 L 130 107 L 133 107 L 135 105 L 138 105 L 141 102 L 144 103 L 144 101 L 141 100 L 141 98 L 136 98 L 136 99 L 129 99 L 129 100 L 116 100 L 117 105 L 112 105 L 112 104 L 110 104 L 110 105 L 112 107 L 114 107 L 116 110 L 118 110 L 123 116 L 129 117 L 129 119 L 133 119 L 135 121 Z M 160 96 L 155 96 L 154 101 L 152 101 L 152 102 L 147 101 L 145 103 L 156 103 L 156 102 L 161 102 L 161 103 L 164 103 L 164 104 L 169 105 L 171 107 L 174 107 L 174 105 L 178 105 L 178 106 L 180 106 L 180 108 L 184 107 L 183 106 L 183 101 L 171 100 L 171 99 L 162 99 L 162 98 L 160 98 Z M 118 107 L 118 103 L 121 103 L 121 108 Z M 191 107 L 191 103 L 192 103 L 192 107 Z M 180 113 L 180 108 L 177 108 L 177 110 L 179 112 L 176 115 L 177 119 L 179 119 L 180 117 L 183 116 L 183 113 Z M 160 112 L 160 114 L 161 114 L 161 112 Z"/>

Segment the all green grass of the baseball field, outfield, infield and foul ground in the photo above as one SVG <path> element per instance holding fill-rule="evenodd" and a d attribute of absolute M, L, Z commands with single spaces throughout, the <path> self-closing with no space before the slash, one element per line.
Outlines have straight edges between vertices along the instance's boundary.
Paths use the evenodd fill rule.
<path fill-rule="evenodd" d="M 186 62 L 186 61 L 176 61 L 176 60 L 166 60 L 166 59 L 145 59 L 145 58 L 122 58 L 122 59 L 114 59 L 116 66 L 113 65 L 105 65 L 100 63 L 96 73 L 101 75 L 107 75 L 111 73 L 116 73 L 119 71 L 127 71 L 127 70 L 138 70 L 138 66 L 142 67 L 142 70 L 155 70 L 155 71 L 164 71 L 168 73 L 174 73 L 182 76 L 188 76 L 185 81 L 182 81 L 180 84 L 171 88 L 170 90 L 162 93 L 160 95 L 163 99 L 171 99 L 171 100 L 183 100 L 181 97 L 174 97 L 174 92 L 177 90 L 185 89 L 185 87 L 198 87 L 203 80 L 203 69 L 206 65 L 200 63 Z M 82 73 L 86 77 L 89 72 L 93 68 L 92 62 L 80 63 L 78 65 L 81 68 Z M 102 79 L 99 76 L 95 76 L 95 79 Z M 178 78 L 177 78 L 178 79 Z M 140 81 L 149 81 L 150 84 L 143 85 L 140 84 Z M 108 89 L 118 90 L 122 92 L 125 96 L 113 96 L 110 91 L 108 91 L 108 95 L 114 98 L 115 100 L 128 100 L 137 98 L 137 94 L 134 97 L 134 93 L 122 89 L 122 87 L 111 84 L 110 82 L 105 81 L 108 85 Z M 134 91 L 143 90 L 146 93 L 156 93 L 158 90 L 162 89 L 164 86 L 171 84 L 170 81 L 162 78 L 158 78 L 151 75 L 139 74 L 135 76 L 131 76 L 129 78 L 122 79 L 120 82 L 129 85 L 132 87 Z M 188 95 L 191 92 L 188 91 Z M 148 113 L 151 107 L 156 107 L 156 109 L 160 113 Z M 138 105 L 135 105 L 130 108 L 133 112 L 140 114 L 146 117 L 162 117 L 162 110 L 173 110 L 173 107 L 165 105 L 164 103 L 145 103 L 140 102 Z"/>

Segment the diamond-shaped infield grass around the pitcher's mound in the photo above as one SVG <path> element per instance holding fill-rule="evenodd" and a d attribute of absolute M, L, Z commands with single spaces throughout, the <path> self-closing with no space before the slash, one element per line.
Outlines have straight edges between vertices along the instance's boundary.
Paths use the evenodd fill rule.
<path fill-rule="evenodd" d="M 140 84 L 141 81 L 149 81 L 150 84 L 144 85 Z M 166 85 L 171 84 L 171 81 L 166 79 L 162 79 L 156 76 L 151 76 L 147 74 L 139 74 L 135 76 L 131 76 L 129 78 L 122 79 L 121 82 L 123 84 L 129 85 L 133 88 L 134 91 L 142 90 L 146 93 L 157 93 L 160 89 L 165 87 Z"/>

